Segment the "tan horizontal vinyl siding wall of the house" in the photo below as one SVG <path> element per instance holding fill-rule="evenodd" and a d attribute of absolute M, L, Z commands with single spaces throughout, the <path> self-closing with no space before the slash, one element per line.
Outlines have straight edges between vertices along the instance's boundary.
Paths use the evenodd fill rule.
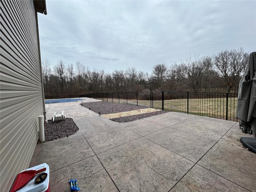
<path fill-rule="evenodd" d="M 33 1 L 0 1 L 0 191 L 28 168 L 43 115 L 37 13 Z"/>

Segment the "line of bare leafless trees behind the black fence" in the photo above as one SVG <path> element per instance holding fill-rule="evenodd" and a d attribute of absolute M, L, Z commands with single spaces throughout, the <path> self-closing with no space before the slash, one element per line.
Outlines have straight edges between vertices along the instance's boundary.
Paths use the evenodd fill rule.
<path fill-rule="evenodd" d="M 144 90 L 238 92 L 248 56 L 243 48 L 224 50 L 213 56 L 189 57 L 170 66 L 156 64 L 151 74 L 136 68 L 106 73 L 104 70 L 90 70 L 80 62 L 66 65 L 62 60 L 52 68 L 44 59 L 44 94 L 47 99 Z"/>

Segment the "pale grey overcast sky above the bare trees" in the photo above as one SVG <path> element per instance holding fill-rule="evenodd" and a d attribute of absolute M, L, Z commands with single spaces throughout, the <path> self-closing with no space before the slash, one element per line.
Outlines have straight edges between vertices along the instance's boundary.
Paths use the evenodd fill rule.
<path fill-rule="evenodd" d="M 46 0 L 38 14 L 41 58 L 52 66 L 152 72 L 190 55 L 256 51 L 256 1 Z"/>

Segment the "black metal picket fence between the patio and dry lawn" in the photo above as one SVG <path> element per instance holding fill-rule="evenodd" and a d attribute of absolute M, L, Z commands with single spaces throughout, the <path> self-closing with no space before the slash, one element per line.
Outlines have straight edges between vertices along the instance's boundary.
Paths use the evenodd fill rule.
<path fill-rule="evenodd" d="M 238 121 L 237 93 L 143 91 L 91 93 L 80 97 Z"/>

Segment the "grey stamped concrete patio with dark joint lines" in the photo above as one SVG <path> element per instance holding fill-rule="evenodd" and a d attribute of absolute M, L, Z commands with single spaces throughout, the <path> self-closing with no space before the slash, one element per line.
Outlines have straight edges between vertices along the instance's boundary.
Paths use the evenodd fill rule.
<path fill-rule="evenodd" d="M 238 122 L 168 112 L 118 123 L 80 103 L 46 104 L 48 120 L 64 110 L 79 128 L 36 146 L 30 167 L 50 166 L 52 192 L 70 192 L 71 177 L 81 192 L 256 191 L 256 154 L 239 141 L 252 135 Z"/>

